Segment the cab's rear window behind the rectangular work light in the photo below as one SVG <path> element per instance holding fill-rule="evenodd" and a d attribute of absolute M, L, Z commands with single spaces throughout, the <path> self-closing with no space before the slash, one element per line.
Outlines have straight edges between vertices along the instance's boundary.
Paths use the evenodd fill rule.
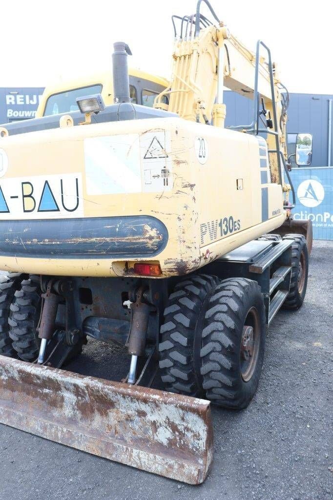
<path fill-rule="evenodd" d="M 101 89 L 102 85 L 98 83 L 97 85 L 73 88 L 72 90 L 67 90 L 65 92 L 59 92 L 50 95 L 46 101 L 43 116 L 67 113 L 69 111 L 77 111 L 78 107 L 76 104 L 76 97 L 83 97 L 84 95 L 100 93 Z"/>

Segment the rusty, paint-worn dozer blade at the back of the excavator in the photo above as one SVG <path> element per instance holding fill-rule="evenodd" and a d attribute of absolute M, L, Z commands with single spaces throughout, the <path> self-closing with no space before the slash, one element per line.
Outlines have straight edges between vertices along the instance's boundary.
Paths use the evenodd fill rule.
<path fill-rule="evenodd" d="M 0 355 L 0 422 L 190 484 L 212 461 L 209 401 Z"/>

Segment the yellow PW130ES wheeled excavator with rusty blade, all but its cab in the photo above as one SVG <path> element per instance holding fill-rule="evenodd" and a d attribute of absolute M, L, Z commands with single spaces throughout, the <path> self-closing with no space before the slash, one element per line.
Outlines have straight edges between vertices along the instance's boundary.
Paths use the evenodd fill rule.
<path fill-rule="evenodd" d="M 212 462 L 210 401 L 249 404 L 311 249 L 270 50 L 201 3 L 172 17 L 153 108 L 130 101 L 117 42 L 113 104 L 81 92 L 78 110 L 0 128 L 0 421 L 194 484 Z M 251 123 L 224 126 L 223 86 L 252 98 Z M 126 346 L 123 380 L 61 369 L 89 336 Z M 149 388 L 158 368 L 165 390 Z"/>

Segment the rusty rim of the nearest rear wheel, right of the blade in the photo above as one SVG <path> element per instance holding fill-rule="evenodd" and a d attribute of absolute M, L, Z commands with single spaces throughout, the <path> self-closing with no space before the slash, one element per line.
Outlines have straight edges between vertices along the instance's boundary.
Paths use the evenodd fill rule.
<path fill-rule="evenodd" d="M 246 315 L 240 340 L 240 373 L 245 382 L 253 375 L 259 354 L 260 318 L 255 307 Z"/>

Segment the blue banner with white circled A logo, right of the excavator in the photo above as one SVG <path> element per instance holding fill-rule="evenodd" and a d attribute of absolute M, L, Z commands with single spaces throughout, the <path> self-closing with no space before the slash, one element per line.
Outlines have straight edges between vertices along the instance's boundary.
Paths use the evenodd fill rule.
<path fill-rule="evenodd" d="M 293 168 L 295 220 L 310 219 L 313 239 L 333 240 L 333 167 Z"/>

